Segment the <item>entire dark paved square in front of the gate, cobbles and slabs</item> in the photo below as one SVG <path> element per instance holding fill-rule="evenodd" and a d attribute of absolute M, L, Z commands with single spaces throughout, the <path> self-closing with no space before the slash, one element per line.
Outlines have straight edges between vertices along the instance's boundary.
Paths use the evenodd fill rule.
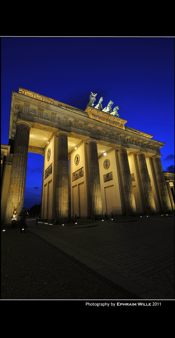
<path fill-rule="evenodd" d="M 6 229 L 1 299 L 174 299 L 174 216 L 77 223 Z"/>

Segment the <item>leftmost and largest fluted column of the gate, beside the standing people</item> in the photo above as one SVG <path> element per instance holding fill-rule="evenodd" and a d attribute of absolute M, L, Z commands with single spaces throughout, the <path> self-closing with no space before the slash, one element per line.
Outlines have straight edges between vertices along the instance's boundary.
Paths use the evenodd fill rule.
<path fill-rule="evenodd" d="M 10 173 L 10 183 L 7 198 L 5 223 L 10 222 L 14 208 L 19 214 L 24 207 L 24 194 L 27 174 L 27 157 L 31 124 L 27 121 L 17 121 L 14 141 L 14 153 Z"/>

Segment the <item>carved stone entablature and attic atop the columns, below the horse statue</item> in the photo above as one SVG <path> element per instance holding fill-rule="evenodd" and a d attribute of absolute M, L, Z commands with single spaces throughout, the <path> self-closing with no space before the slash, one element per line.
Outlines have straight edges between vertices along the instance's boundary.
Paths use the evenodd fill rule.
<path fill-rule="evenodd" d="M 36 93 L 35 93 L 36 94 Z M 131 152 L 145 149 L 155 155 L 165 143 L 152 139 L 152 135 L 125 127 L 126 120 L 88 106 L 80 111 L 59 101 L 55 104 L 39 99 L 39 94 L 19 89 L 12 92 L 9 139 L 14 139 L 17 120 L 30 122 L 32 128 L 56 133 L 65 130 L 76 139 L 94 138 L 109 147 L 127 146 Z M 56 106 L 57 103 L 57 106 Z"/>

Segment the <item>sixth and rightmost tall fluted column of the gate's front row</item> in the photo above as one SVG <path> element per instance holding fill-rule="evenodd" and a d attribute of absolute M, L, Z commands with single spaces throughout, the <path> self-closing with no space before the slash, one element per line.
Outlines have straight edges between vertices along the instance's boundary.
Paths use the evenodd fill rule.
<path fill-rule="evenodd" d="M 170 197 L 168 193 L 168 188 L 165 182 L 164 171 L 162 168 L 162 163 L 160 159 L 161 155 L 155 155 L 153 157 L 153 163 L 156 172 L 157 185 L 159 190 L 159 195 L 162 203 L 163 212 L 172 212 Z"/>

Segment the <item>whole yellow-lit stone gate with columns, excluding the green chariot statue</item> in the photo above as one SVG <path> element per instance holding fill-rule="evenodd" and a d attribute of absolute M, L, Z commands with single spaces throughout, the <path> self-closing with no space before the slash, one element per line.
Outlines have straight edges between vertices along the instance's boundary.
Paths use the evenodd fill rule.
<path fill-rule="evenodd" d="M 1 170 L 5 223 L 24 204 L 28 152 L 44 156 L 42 220 L 173 212 L 174 181 L 160 160 L 165 143 L 126 122 L 93 106 L 83 111 L 23 88 L 12 92 L 8 179 Z"/>

